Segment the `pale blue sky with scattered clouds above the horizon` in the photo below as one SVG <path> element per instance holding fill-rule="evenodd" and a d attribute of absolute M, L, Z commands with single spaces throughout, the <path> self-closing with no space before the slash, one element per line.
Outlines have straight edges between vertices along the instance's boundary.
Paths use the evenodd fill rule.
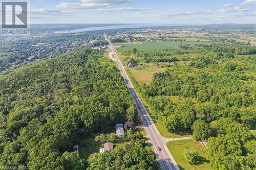
<path fill-rule="evenodd" d="M 256 0 L 31 0 L 31 23 L 256 24 Z"/>

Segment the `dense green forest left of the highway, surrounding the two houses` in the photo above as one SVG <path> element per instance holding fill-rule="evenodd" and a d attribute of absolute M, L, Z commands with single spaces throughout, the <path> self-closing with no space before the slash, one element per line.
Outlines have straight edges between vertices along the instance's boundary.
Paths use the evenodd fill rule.
<path fill-rule="evenodd" d="M 138 119 L 117 67 L 103 61 L 99 51 L 83 47 L 0 75 L 1 167 L 96 166 L 97 161 L 92 163 L 73 152 L 73 144 L 92 132 L 108 131 L 116 123 L 136 123 Z M 107 157 L 120 162 L 122 157 L 129 157 L 121 169 L 151 167 L 155 157 L 143 143 L 135 142 L 128 150 L 124 153 L 117 148 L 91 160 Z M 119 155 L 114 157 L 115 153 Z M 146 157 L 144 163 L 136 153 Z"/>

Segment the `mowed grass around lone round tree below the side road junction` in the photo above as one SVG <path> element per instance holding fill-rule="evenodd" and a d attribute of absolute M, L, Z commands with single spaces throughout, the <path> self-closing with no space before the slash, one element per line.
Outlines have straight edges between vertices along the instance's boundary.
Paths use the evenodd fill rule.
<path fill-rule="evenodd" d="M 180 170 L 208 170 L 210 164 L 206 160 L 206 148 L 200 142 L 196 142 L 194 139 L 189 140 L 179 140 L 179 141 L 170 141 L 166 143 L 167 148 L 170 153 L 173 155 L 176 163 L 180 167 Z M 190 165 L 188 161 L 183 156 L 184 150 L 197 150 L 201 156 L 201 164 L 199 165 Z"/>

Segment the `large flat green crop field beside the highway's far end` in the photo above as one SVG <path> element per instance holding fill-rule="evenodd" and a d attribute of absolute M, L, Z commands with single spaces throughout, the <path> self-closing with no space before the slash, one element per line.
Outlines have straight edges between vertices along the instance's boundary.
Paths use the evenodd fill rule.
<path fill-rule="evenodd" d="M 137 48 L 140 51 L 147 51 L 147 50 L 160 50 L 160 49 L 178 49 L 180 43 L 182 44 L 190 44 L 191 47 L 195 46 L 195 44 L 210 44 L 210 43 L 220 43 L 220 42 L 194 42 L 194 41 L 140 41 L 138 44 L 129 44 L 129 43 L 122 43 L 123 47 L 117 48 L 119 52 L 123 51 L 132 51 L 133 48 Z M 120 43 L 115 43 L 120 44 Z"/>

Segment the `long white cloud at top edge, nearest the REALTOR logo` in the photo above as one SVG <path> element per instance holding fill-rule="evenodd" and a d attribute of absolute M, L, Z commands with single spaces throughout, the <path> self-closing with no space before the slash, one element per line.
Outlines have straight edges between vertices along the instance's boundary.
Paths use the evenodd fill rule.
<path fill-rule="evenodd" d="M 116 4 L 132 3 L 134 0 L 80 0 L 81 3 L 61 2 L 56 8 L 99 8 Z"/>

